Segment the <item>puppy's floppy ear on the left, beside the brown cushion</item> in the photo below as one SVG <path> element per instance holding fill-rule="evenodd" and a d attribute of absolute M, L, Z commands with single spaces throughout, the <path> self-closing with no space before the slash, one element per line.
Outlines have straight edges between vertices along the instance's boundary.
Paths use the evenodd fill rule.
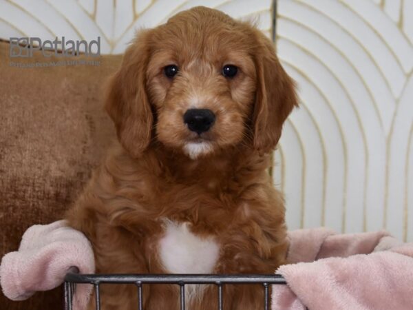
<path fill-rule="evenodd" d="M 151 30 L 138 34 L 129 45 L 120 69 L 109 81 L 105 108 L 115 123 L 120 143 L 134 157 L 151 141 L 153 114 L 146 91 L 148 39 Z"/>

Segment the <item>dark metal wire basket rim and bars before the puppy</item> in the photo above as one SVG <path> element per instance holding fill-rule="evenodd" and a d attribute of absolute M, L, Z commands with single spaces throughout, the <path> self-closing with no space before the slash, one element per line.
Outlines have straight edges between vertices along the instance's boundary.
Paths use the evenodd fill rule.
<path fill-rule="evenodd" d="M 180 310 L 185 310 L 185 285 L 217 285 L 218 310 L 222 310 L 222 286 L 256 284 L 264 289 L 264 310 L 268 310 L 269 285 L 285 285 L 286 280 L 277 274 L 248 274 L 248 275 L 215 275 L 215 274 L 78 274 L 67 273 L 65 276 L 65 310 L 72 310 L 72 298 L 76 283 L 94 285 L 96 310 L 100 310 L 101 284 L 136 285 L 138 293 L 138 310 L 143 310 L 143 285 L 163 284 L 179 285 Z"/>

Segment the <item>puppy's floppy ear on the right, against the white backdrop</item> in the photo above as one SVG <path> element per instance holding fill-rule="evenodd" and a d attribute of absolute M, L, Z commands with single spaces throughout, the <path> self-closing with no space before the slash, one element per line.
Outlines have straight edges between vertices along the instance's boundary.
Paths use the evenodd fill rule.
<path fill-rule="evenodd" d="M 257 94 L 253 112 L 254 147 L 271 152 L 279 141 L 282 125 L 298 105 L 295 84 L 275 54 L 273 43 L 257 30 Z"/>

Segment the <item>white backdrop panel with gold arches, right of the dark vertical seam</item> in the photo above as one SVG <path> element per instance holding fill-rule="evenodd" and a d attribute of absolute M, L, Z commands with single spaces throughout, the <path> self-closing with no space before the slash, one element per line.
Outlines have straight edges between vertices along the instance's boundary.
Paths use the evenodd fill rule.
<path fill-rule="evenodd" d="M 290 228 L 413 240 L 412 30 L 410 0 L 278 1 L 277 50 L 301 99 L 275 156 Z"/>

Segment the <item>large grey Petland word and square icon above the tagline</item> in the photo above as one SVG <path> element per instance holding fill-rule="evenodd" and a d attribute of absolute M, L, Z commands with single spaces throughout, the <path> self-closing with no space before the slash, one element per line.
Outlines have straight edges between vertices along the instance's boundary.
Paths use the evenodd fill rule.
<path fill-rule="evenodd" d="M 96 57 L 100 56 L 100 37 L 89 43 L 85 40 L 65 41 L 65 37 L 62 37 L 61 40 L 56 37 L 54 41 L 46 40 L 44 42 L 37 37 L 10 38 L 10 58 L 29 58 L 33 56 L 35 51 L 40 51 L 46 58 L 50 56 L 72 57 L 79 54 Z"/>

